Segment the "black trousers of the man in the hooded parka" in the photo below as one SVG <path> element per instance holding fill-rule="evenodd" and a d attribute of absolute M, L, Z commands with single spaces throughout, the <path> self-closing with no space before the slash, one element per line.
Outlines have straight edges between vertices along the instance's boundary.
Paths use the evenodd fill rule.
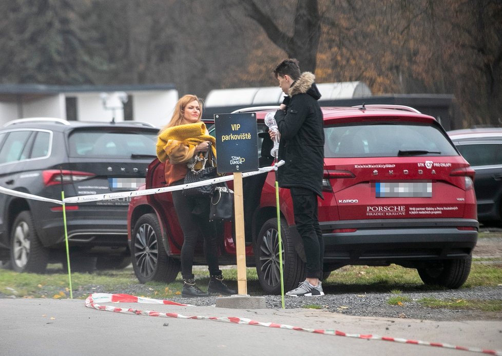
<path fill-rule="evenodd" d="M 307 260 L 307 278 L 322 280 L 324 241 L 317 215 L 317 194 L 306 188 L 292 187 L 296 229 L 300 233 Z"/>

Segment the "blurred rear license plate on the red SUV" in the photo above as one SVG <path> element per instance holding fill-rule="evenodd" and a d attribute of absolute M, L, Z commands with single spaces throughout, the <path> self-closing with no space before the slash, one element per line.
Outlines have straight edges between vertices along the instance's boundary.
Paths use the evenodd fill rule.
<path fill-rule="evenodd" d="M 377 198 L 387 197 L 431 197 L 432 182 L 377 182 Z"/>

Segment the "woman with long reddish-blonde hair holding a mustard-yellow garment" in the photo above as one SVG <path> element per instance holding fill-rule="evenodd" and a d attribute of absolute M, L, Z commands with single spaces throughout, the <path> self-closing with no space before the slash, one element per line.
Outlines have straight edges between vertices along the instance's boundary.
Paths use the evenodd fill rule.
<path fill-rule="evenodd" d="M 188 169 L 201 165 L 196 157 L 200 152 L 213 150 L 216 156 L 215 139 L 207 132 L 201 121 L 202 104 L 196 95 L 184 95 L 176 104 L 169 123 L 160 131 L 157 156 L 165 162 L 165 178 L 168 186 L 183 184 Z M 211 145 L 209 145 L 211 144 Z M 216 229 L 209 221 L 209 197 L 187 197 L 182 190 L 172 192 L 172 202 L 183 230 L 181 249 L 182 296 L 206 296 L 209 293 L 236 294 L 223 283 L 218 262 Z M 204 254 L 209 269 L 208 292 L 196 284 L 192 273 L 194 252 L 199 241 L 204 241 Z"/>

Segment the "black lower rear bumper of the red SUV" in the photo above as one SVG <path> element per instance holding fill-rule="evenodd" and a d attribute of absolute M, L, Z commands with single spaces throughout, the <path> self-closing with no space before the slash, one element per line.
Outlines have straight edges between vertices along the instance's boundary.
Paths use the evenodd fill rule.
<path fill-rule="evenodd" d="M 466 219 L 409 219 L 320 223 L 324 263 L 413 265 L 467 257 L 476 246 L 479 224 Z M 460 228 L 460 229 L 459 229 Z M 356 229 L 354 232 L 333 232 Z"/>

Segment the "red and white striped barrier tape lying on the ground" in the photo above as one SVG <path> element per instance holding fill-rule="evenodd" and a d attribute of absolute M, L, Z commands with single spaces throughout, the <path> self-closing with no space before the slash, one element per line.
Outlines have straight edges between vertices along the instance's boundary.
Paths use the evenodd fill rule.
<path fill-rule="evenodd" d="M 212 321 L 234 323 L 234 324 L 258 325 L 258 326 L 265 326 L 265 327 L 269 327 L 269 328 L 312 332 L 312 333 L 324 334 L 324 335 L 344 336 L 347 338 L 393 341 L 393 342 L 410 344 L 410 345 L 442 347 L 442 348 L 448 348 L 448 349 L 454 349 L 454 350 L 471 351 L 471 352 L 485 353 L 485 354 L 489 354 L 489 355 L 502 356 L 502 351 L 500 351 L 500 350 L 489 350 L 489 349 L 483 349 L 483 348 L 478 348 L 478 347 L 455 346 L 455 345 L 450 345 L 450 344 L 435 343 L 435 342 L 428 342 L 428 341 L 421 341 L 421 340 L 408 340 L 408 339 L 403 339 L 403 338 L 391 338 L 391 337 L 384 337 L 384 336 L 372 335 L 372 334 L 367 334 L 367 335 L 365 335 L 365 334 L 351 334 L 351 333 L 346 333 L 346 332 L 338 331 L 338 330 L 334 330 L 334 329 L 326 329 L 326 330 L 308 329 L 308 328 L 301 328 L 298 326 L 291 326 L 291 325 L 285 325 L 285 324 L 263 323 L 263 322 L 258 322 L 258 321 L 251 320 L 251 319 L 238 318 L 238 317 L 202 317 L 199 315 L 192 316 L 192 317 L 186 317 L 185 315 L 181 315 L 178 313 L 161 313 L 159 311 L 138 310 L 138 309 L 133 309 L 133 308 L 123 309 L 123 308 L 117 308 L 117 307 L 112 307 L 112 306 L 99 305 L 99 304 L 95 303 L 96 301 L 105 302 L 105 303 L 122 302 L 122 303 L 167 304 L 167 305 L 190 306 L 190 307 L 194 306 L 194 305 L 190 305 L 190 304 L 181 304 L 181 303 L 171 302 L 168 300 L 142 298 L 142 297 L 133 296 L 133 295 L 129 295 L 129 294 L 107 294 L 107 293 L 94 293 L 94 294 L 89 295 L 87 297 L 87 299 L 85 300 L 85 306 L 88 308 L 94 308 L 94 309 L 98 309 L 98 310 L 113 311 L 116 313 L 131 313 L 131 314 L 136 314 L 136 315 L 146 315 L 148 317 L 212 320 Z"/>

